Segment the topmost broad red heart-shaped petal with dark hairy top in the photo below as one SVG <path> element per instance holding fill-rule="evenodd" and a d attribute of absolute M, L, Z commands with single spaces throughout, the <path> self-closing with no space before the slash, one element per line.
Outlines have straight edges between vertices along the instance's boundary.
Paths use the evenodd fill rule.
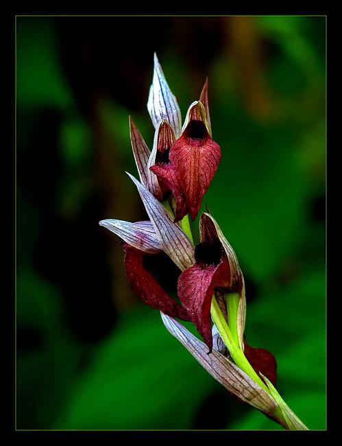
<path fill-rule="evenodd" d="M 199 129 L 194 131 L 196 126 Z M 201 126 L 204 126 L 201 121 L 190 121 L 169 152 L 169 159 L 184 190 L 191 220 L 197 217 L 201 200 L 221 159 L 219 145 L 212 141 L 205 126 L 205 130 Z"/>

